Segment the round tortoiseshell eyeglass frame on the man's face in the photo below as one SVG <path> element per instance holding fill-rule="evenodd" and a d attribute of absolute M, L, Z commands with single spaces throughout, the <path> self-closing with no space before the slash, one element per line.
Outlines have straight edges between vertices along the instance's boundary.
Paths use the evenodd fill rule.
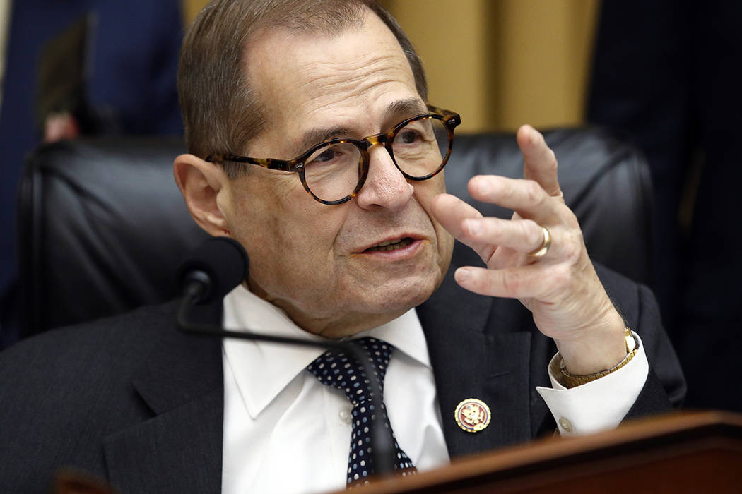
<path fill-rule="evenodd" d="M 301 153 L 301 156 L 289 160 L 276 158 L 249 158 L 247 156 L 236 156 L 232 154 L 212 154 L 206 156 L 206 161 L 210 161 L 212 163 L 235 161 L 237 163 L 257 164 L 257 166 L 267 168 L 268 170 L 295 172 L 299 174 L 299 179 L 301 180 L 301 184 L 303 185 L 304 190 L 306 190 L 306 192 L 309 193 L 309 195 L 312 196 L 315 201 L 329 205 L 343 204 L 344 202 L 350 201 L 352 198 L 357 196 L 358 192 L 361 191 L 361 187 L 363 187 L 366 183 L 366 178 L 369 173 L 369 167 L 371 165 L 371 156 L 369 150 L 375 144 L 381 144 L 382 146 L 384 146 L 384 148 L 387 150 L 387 153 L 389 153 L 389 156 L 392 158 L 394 166 L 397 167 L 397 170 L 399 170 L 404 178 L 407 178 L 408 180 L 427 180 L 428 178 L 433 178 L 434 176 L 438 175 L 441 170 L 443 170 L 448 162 L 448 158 L 451 155 L 451 150 L 453 149 L 453 130 L 459 124 L 461 124 L 461 116 L 459 116 L 458 113 L 452 112 L 450 110 L 443 110 L 442 108 L 434 107 L 430 104 L 427 105 L 427 110 L 429 113 L 421 113 L 420 115 L 412 116 L 409 119 L 404 119 L 403 121 L 394 125 L 388 132 L 374 134 L 362 139 L 352 139 L 344 137 L 328 139 L 310 147 L 309 150 L 307 150 L 305 153 Z M 442 159 L 440 166 L 433 173 L 429 173 L 428 175 L 423 177 L 413 177 L 405 173 L 404 170 L 402 170 L 397 164 L 397 161 L 394 158 L 392 144 L 394 143 L 394 138 L 397 136 L 398 131 L 401 130 L 402 127 L 413 121 L 430 118 L 442 121 L 444 126 L 446 127 L 446 130 L 448 131 L 448 150 L 446 156 L 444 156 L 444 158 Z M 338 199 L 336 201 L 325 201 L 324 199 L 318 198 L 318 196 L 315 196 L 315 193 L 313 193 L 312 190 L 309 189 L 309 185 L 306 183 L 306 176 L 304 175 L 304 161 L 309 158 L 309 156 L 312 156 L 312 154 L 321 147 L 331 146 L 332 144 L 347 143 L 353 144 L 361 153 L 361 161 L 359 163 L 361 168 L 358 171 L 358 184 L 356 184 L 355 189 L 352 191 L 352 193 L 349 193 L 344 198 Z"/>

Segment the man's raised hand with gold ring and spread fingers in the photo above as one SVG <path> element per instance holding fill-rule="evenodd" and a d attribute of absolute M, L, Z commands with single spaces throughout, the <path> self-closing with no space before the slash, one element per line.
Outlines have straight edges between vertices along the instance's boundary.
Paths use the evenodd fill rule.
<path fill-rule="evenodd" d="M 433 215 L 487 264 L 460 267 L 456 282 L 482 295 L 519 299 L 539 330 L 557 342 L 570 373 L 609 369 L 626 356 L 623 320 L 562 198 L 554 152 L 530 125 L 516 138 L 525 178 L 475 176 L 468 184 L 473 198 L 508 207 L 512 218 L 484 218 L 448 194 L 433 199 Z"/>

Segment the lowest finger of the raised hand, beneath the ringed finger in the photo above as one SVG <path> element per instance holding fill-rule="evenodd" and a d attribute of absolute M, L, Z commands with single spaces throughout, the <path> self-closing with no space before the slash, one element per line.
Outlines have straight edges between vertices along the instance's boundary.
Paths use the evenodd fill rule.
<path fill-rule="evenodd" d="M 459 267 L 453 273 L 453 278 L 462 288 L 479 295 L 524 299 L 540 298 L 546 277 L 542 264 L 527 264 L 500 270 Z"/>

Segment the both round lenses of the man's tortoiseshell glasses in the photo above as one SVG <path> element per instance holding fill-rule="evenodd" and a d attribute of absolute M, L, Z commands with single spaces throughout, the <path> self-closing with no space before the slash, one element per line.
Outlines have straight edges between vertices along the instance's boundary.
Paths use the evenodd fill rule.
<path fill-rule="evenodd" d="M 439 119 L 411 121 L 398 129 L 392 143 L 393 158 L 407 175 L 421 178 L 439 169 L 448 152 L 448 130 Z M 323 201 L 339 201 L 358 185 L 363 155 L 352 143 L 329 144 L 304 161 L 309 190 Z"/>

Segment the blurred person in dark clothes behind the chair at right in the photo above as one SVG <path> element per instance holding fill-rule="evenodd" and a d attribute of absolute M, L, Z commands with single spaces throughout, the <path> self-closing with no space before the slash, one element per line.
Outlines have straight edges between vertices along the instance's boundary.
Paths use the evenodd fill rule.
<path fill-rule="evenodd" d="M 588 120 L 651 167 L 654 280 L 687 407 L 742 411 L 739 1 L 604 0 Z"/>

